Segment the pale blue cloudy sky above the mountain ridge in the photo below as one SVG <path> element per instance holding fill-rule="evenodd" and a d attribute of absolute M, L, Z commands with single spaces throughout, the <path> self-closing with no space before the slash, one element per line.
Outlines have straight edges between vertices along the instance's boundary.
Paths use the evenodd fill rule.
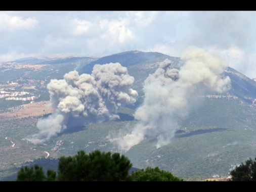
<path fill-rule="evenodd" d="M 181 57 L 189 46 L 256 78 L 255 11 L 0 11 L 0 62 L 126 51 Z"/>

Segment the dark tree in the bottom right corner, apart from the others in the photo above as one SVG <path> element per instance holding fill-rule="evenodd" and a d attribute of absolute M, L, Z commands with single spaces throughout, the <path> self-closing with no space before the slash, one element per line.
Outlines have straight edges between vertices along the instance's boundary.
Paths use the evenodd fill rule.
<path fill-rule="evenodd" d="M 250 158 L 245 164 L 236 166 L 230 175 L 230 181 L 256 181 L 256 158 L 255 161 Z"/>

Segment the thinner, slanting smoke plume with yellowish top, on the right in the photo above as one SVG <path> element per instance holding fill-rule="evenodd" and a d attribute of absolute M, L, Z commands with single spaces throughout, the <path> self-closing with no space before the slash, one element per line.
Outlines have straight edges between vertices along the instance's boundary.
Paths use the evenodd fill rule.
<path fill-rule="evenodd" d="M 229 89 L 230 78 L 221 78 L 228 66 L 220 58 L 189 47 L 181 61 L 180 70 L 171 68 L 169 60 L 163 61 L 145 80 L 144 103 L 135 112 L 138 123 L 130 133 L 111 138 L 120 150 L 127 151 L 146 138 L 156 138 L 157 148 L 168 144 L 179 128 L 177 119 L 189 113 L 193 96 L 205 89 L 219 93 Z"/>

